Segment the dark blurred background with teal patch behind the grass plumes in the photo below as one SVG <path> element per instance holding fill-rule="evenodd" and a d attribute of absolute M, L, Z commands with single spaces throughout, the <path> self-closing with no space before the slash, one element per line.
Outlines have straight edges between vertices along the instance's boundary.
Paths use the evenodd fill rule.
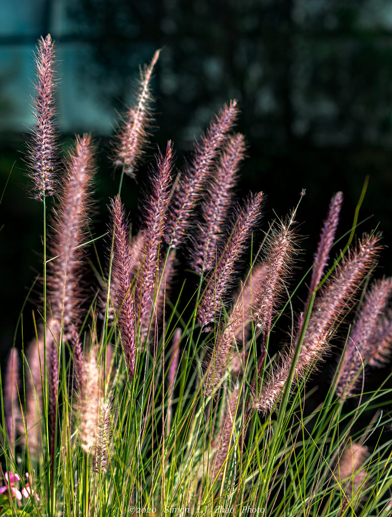
<path fill-rule="evenodd" d="M 370 175 L 360 220 L 380 223 L 392 238 L 391 0 L 18 0 L 0 17 L 0 270 L 3 305 L 0 350 L 8 349 L 23 300 L 41 270 L 42 204 L 28 199 L 25 133 L 33 122 L 33 52 L 50 33 L 58 56 L 58 127 L 95 135 L 97 175 L 93 227 L 105 231 L 106 204 L 117 189 L 108 160 L 117 111 L 132 101 L 139 64 L 161 48 L 153 91 L 156 145 L 174 141 L 181 156 L 212 114 L 239 99 L 238 130 L 248 142 L 239 195 L 263 190 L 267 221 L 284 216 L 306 188 L 297 220 L 308 239 L 308 267 L 331 195 L 344 192 L 339 235 L 348 231 Z M 123 199 L 139 218 L 138 184 L 125 181 Z M 116 177 L 118 179 L 118 176 Z M 362 230 L 359 230 L 359 232 Z M 378 275 L 391 274 L 386 249 Z M 39 288 L 25 307 L 26 334 Z M 25 340 L 30 335 L 24 336 Z M 20 343 L 19 343 L 20 346 Z"/>

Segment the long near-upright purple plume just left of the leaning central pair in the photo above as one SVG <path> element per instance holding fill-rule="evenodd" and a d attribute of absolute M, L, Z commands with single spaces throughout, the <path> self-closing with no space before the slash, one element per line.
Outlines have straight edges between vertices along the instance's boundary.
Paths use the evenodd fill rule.
<path fill-rule="evenodd" d="M 146 321 L 148 306 L 155 305 L 158 291 L 159 263 L 162 256 L 166 211 L 170 200 L 171 171 L 173 169 L 173 145 L 168 142 L 165 155 L 157 157 L 157 174 L 152 179 L 152 192 L 147 203 L 144 252 L 140 282 L 136 289 L 136 301 L 140 302 L 139 318 Z M 150 304 L 149 304 L 150 302 Z M 147 326 L 150 321 L 147 322 Z"/>

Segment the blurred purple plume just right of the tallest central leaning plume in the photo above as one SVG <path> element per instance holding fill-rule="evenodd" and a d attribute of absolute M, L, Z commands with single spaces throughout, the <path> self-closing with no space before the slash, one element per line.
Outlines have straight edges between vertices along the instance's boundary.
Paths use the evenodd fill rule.
<path fill-rule="evenodd" d="M 222 238 L 233 204 L 233 188 L 237 184 L 237 173 L 244 153 L 243 135 L 231 136 L 219 159 L 207 199 L 202 203 L 202 222 L 194 239 L 192 260 L 193 269 L 199 274 L 211 269 L 215 264 L 216 246 Z"/>

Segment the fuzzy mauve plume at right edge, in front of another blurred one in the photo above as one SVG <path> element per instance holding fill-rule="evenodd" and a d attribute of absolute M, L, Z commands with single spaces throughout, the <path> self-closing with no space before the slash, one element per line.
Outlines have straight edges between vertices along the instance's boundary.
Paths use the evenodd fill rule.
<path fill-rule="evenodd" d="M 374 336 L 392 295 L 392 278 L 373 283 L 352 327 L 340 361 L 336 393 L 345 399 L 355 389 L 363 366 L 372 359 Z"/>

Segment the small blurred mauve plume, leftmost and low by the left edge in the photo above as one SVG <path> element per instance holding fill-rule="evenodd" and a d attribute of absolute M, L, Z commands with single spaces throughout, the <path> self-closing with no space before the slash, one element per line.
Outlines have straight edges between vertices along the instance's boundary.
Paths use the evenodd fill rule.
<path fill-rule="evenodd" d="M 12 347 L 8 356 L 7 370 L 4 384 L 4 416 L 9 436 L 9 443 L 13 445 L 18 428 L 20 427 L 19 390 L 22 384 L 19 379 L 19 356 L 16 348 Z"/>

